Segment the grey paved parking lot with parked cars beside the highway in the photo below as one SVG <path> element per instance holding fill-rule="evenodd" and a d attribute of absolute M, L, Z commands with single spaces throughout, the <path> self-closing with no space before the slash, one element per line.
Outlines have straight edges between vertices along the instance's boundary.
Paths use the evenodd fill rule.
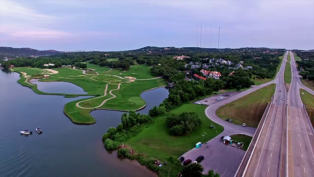
<path fill-rule="evenodd" d="M 219 173 L 220 177 L 234 177 L 245 151 L 224 145 L 219 141 L 221 135 L 211 139 L 207 144 L 203 144 L 201 148 L 193 148 L 182 156 L 186 159 L 195 159 L 203 155 L 205 158 L 200 163 L 204 167 L 203 174 L 207 174 L 209 170 Z"/>

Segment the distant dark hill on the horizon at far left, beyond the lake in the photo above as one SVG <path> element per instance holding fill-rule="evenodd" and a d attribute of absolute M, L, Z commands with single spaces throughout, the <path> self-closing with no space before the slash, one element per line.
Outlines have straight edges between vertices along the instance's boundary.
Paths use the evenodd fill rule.
<path fill-rule="evenodd" d="M 45 50 L 39 51 L 31 48 L 13 48 L 13 47 L 0 47 L 0 56 L 43 56 L 59 54 L 59 51 Z"/>

